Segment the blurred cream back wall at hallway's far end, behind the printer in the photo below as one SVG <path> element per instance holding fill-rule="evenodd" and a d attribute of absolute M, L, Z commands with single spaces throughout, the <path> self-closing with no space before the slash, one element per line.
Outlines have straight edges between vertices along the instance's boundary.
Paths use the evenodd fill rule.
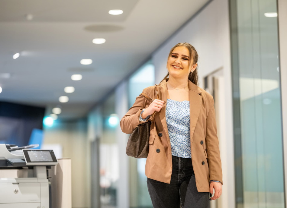
<path fill-rule="evenodd" d="M 90 148 L 87 122 L 61 122 L 44 128 L 44 144 L 60 144 L 63 158 L 72 159 L 72 207 L 90 207 Z"/>

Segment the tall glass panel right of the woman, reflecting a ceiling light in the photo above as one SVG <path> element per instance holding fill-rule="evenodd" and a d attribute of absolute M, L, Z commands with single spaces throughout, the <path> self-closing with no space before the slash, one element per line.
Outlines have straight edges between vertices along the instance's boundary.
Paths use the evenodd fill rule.
<path fill-rule="evenodd" d="M 285 207 L 276 0 L 230 0 L 237 207 Z"/>

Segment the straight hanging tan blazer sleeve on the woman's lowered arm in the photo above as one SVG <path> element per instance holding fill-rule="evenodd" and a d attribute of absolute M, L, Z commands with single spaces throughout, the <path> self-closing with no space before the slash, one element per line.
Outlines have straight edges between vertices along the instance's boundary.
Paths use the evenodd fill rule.
<path fill-rule="evenodd" d="M 206 118 L 206 151 L 208 155 L 209 180 L 221 181 L 222 169 L 217 137 L 214 99 L 211 98 L 211 107 Z M 223 183 L 222 183 L 223 184 Z"/>

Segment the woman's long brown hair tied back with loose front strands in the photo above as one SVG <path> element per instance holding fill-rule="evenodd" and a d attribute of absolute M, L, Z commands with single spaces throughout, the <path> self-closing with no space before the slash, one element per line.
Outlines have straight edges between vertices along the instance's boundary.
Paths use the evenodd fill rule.
<path fill-rule="evenodd" d="M 190 45 L 189 43 L 178 43 L 175 46 L 172 47 L 172 49 L 170 49 L 169 55 L 167 57 L 167 59 L 169 59 L 171 53 L 173 52 L 173 49 L 175 49 L 178 46 L 185 46 L 188 51 L 189 51 L 189 66 L 190 65 L 195 65 L 198 61 L 198 54 L 197 51 L 195 50 L 195 48 Z M 192 81 L 193 84 L 196 84 L 198 86 L 198 65 L 196 66 L 195 70 L 192 73 L 189 73 L 188 75 L 188 79 L 190 81 Z M 166 76 L 163 78 L 163 80 L 165 80 L 167 77 L 169 76 L 169 72 L 166 74 Z M 161 80 L 160 82 L 162 82 L 163 80 Z"/>

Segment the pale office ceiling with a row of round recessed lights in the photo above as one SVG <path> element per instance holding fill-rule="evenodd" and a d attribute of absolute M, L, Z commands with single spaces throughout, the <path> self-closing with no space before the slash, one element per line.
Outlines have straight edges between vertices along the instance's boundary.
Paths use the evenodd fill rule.
<path fill-rule="evenodd" d="M 60 105 L 60 119 L 83 118 L 207 2 L 0 0 L 0 101 L 45 106 L 47 114 Z M 81 65 L 84 58 L 93 63 Z M 83 78 L 73 81 L 72 74 Z M 67 86 L 75 92 L 65 93 Z M 60 96 L 69 102 L 60 103 Z"/>

